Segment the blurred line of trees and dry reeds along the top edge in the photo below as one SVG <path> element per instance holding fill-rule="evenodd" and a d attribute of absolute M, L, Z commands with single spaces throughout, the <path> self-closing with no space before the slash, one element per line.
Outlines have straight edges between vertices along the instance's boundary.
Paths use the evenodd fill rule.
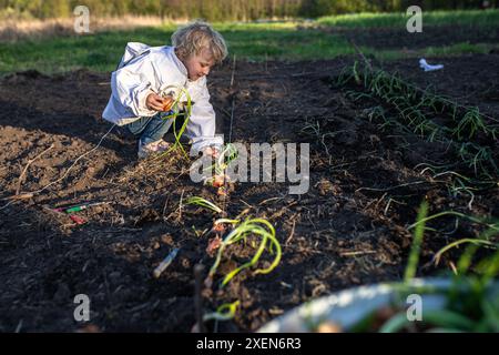
<path fill-rule="evenodd" d="M 170 19 L 204 18 L 210 21 L 263 18 L 315 18 L 349 12 L 405 11 L 499 7 L 499 0 L 0 0 L 0 18 L 64 18 L 79 4 L 93 16 L 160 16 Z"/>

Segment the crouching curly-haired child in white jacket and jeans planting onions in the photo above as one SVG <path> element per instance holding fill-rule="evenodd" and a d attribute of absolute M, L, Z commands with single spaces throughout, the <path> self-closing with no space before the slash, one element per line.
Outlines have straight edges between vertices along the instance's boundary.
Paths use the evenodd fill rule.
<path fill-rule="evenodd" d="M 216 155 L 223 140 L 215 136 L 215 112 L 206 75 L 227 55 L 225 41 L 210 24 L 196 21 L 177 29 L 172 43 L 173 47 L 128 44 L 122 62 L 111 75 L 112 93 L 102 118 L 124 125 L 139 138 L 139 159 L 165 151 L 169 143 L 163 135 L 173 120 L 162 119 L 160 112 L 170 110 L 172 99 L 186 101 L 184 89 L 194 102 L 185 128 L 192 150 Z"/>

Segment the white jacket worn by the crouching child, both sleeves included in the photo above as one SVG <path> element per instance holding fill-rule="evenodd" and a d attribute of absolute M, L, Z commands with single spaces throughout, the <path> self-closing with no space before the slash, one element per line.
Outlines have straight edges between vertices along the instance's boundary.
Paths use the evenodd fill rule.
<path fill-rule="evenodd" d="M 155 115 L 157 112 L 146 108 L 145 99 L 170 85 L 184 88 L 194 102 L 185 129 L 192 149 L 197 152 L 207 145 L 223 144 L 222 136 L 215 136 L 215 111 L 210 103 L 206 77 L 190 81 L 187 69 L 173 47 L 129 43 L 122 62 L 111 74 L 111 98 L 102 118 L 124 125 L 142 116 Z"/>

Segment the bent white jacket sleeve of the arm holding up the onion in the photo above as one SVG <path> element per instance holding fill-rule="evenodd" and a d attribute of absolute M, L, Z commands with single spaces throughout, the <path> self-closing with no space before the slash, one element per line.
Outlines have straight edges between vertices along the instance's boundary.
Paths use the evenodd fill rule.
<path fill-rule="evenodd" d="M 153 92 L 151 78 L 154 75 L 149 55 L 139 58 L 111 75 L 111 90 L 114 98 L 130 109 L 136 116 L 152 116 L 157 112 L 147 109 L 145 99 Z"/>

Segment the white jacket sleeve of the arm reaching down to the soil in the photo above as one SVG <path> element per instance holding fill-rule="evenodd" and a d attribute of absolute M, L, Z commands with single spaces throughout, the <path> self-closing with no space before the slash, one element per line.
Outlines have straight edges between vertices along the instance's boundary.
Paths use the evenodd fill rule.
<path fill-rule="evenodd" d="M 215 111 L 210 103 L 205 78 L 192 91 L 192 101 L 194 101 L 192 114 L 185 128 L 185 134 L 192 142 L 192 150 L 200 152 L 205 146 L 222 145 L 223 136 L 215 136 Z"/>

